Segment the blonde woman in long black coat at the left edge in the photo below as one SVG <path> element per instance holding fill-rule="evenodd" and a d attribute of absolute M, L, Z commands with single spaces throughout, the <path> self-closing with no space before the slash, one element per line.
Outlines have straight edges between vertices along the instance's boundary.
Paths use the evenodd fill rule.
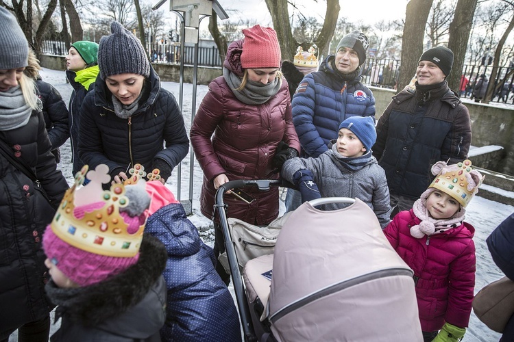
<path fill-rule="evenodd" d="M 34 80 L 23 74 L 29 44 L 2 7 L 0 47 L 0 341 L 18 329 L 19 341 L 46 342 L 51 304 L 41 237 L 68 185 L 50 152 Z"/>

